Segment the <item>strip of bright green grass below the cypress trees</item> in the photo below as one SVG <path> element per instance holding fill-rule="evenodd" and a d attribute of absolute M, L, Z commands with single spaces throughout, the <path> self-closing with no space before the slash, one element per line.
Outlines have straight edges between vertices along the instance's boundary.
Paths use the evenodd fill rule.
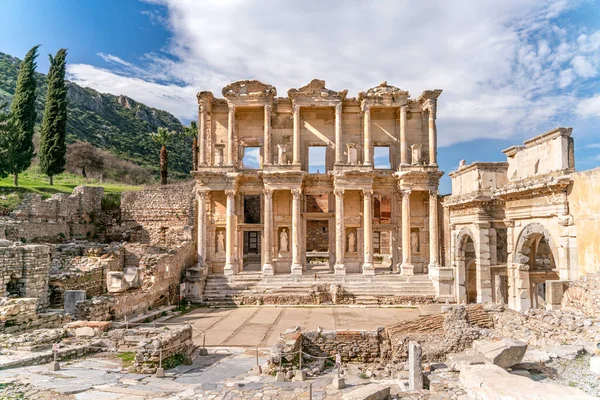
<path fill-rule="evenodd" d="M 85 179 L 78 175 L 62 173 L 54 177 L 54 185 L 50 186 L 48 177 L 35 167 L 19 175 L 19 186 L 13 186 L 13 177 L 0 179 L 0 215 L 14 210 L 28 193 L 37 193 L 47 199 L 55 193 L 71 194 L 79 185 L 104 187 L 107 203 L 114 207 L 118 204 L 121 192 L 140 190 L 142 186 L 131 186 L 115 182 L 100 182 L 97 179 Z"/>

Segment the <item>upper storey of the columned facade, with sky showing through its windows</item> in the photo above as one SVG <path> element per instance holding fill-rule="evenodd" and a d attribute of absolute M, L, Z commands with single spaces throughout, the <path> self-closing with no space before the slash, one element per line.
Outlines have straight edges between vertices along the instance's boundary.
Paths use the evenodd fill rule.
<path fill-rule="evenodd" d="M 200 92 L 198 170 L 307 171 L 309 149 L 324 147 L 319 173 L 356 166 L 402 170 L 437 167 L 437 98 L 427 90 L 418 98 L 382 82 L 348 98 L 314 79 L 276 97 L 275 87 L 256 80 L 223 88 L 223 98 Z M 252 149 L 258 160 L 244 164 Z M 321 149 L 323 150 L 323 149 Z M 314 171 L 312 171 L 314 172 Z"/>

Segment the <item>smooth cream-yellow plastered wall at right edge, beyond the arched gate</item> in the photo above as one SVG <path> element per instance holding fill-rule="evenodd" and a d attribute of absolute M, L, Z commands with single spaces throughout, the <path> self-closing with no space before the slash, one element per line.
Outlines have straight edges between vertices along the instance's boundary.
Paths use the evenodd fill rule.
<path fill-rule="evenodd" d="M 571 175 L 569 211 L 577 229 L 579 276 L 600 272 L 600 168 Z"/>

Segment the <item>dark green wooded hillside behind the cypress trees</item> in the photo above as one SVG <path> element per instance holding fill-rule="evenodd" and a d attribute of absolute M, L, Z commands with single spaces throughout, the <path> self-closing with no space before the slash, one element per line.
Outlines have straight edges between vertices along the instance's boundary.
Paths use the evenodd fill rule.
<path fill-rule="evenodd" d="M 0 52 L 0 104 L 12 100 L 20 63 L 18 58 Z M 37 120 L 41 124 L 46 76 L 37 74 L 37 81 Z M 151 140 L 150 133 L 156 132 L 158 127 L 181 131 L 182 125 L 177 118 L 126 96 L 98 93 L 72 82 L 68 83 L 68 88 L 69 143 L 76 140 L 89 142 L 119 158 L 133 161 L 158 176 L 160 146 Z M 178 136 L 168 147 L 170 176 L 189 178 L 192 169 L 191 142 L 191 138 Z"/>

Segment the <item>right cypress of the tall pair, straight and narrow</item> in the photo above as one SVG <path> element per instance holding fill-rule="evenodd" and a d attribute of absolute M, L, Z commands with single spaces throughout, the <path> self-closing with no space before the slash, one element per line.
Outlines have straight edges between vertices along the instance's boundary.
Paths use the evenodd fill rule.
<path fill-rule="evenodd" d="M 65 85 L 65 64 L 67 49 L 60 49 L 50 57 L 48 71 L 48 92 L 40 137 L 40 169 L 50 178 L 65 170 L 67 162 L 67 87 Z"/>

